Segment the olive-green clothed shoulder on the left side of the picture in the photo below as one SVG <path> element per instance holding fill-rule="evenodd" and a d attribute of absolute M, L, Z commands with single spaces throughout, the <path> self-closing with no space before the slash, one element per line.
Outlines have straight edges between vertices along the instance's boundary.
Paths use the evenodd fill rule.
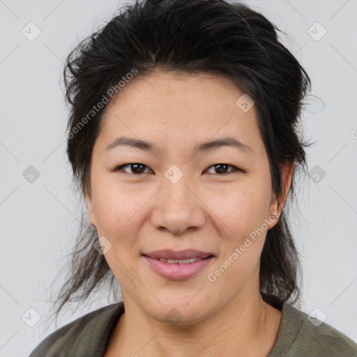
<path fill-rule="evenodd" d="M 89 312 L 48 335 L 29 357 L 91 356 L 105 344 L 123 310 L 121 301 Z"/>

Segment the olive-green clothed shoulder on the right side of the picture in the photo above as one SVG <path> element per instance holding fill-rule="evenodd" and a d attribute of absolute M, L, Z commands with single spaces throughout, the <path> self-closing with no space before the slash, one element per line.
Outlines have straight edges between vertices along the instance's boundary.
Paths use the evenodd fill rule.
<path fill-rule="evenodd" d="M 357 344 L 332 326 L 284 304 L 278 338 L 268 355 L 278 356 L 352 357 L 357 356 Z"/>

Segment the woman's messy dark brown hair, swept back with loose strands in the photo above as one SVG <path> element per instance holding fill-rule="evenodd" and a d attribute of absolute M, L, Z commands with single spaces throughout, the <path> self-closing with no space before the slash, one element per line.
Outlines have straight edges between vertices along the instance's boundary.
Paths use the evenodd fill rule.
<path fill-rule="evenodd" d="M 307 168 L 304 147 L 310 144 L 301 138 L 299 119 L 311 84 L 294 55 L 278 40 L 278 31 L 243 3 L 147 0 L 121 8 L 77 45 L 63 71 L 70 106 L 67 154 L 77 189 L 90 192 L 91 153 L 105 109 L 93 113 L 93 107 L 108 97 L 111 88 L 118 89 L 133 69 L 137 74 L 132 80 L 162 70 L 211 73 L 248 93 L 255 101 L 275 197 L 282 194 L 280 164 L 296 162 L 291 198 L 296 172 Z M 278 309 L 284 302 L 296 303 L 301 294 L 301 266 L 286 211 L 287 205 L 267 232 L 260 261 L 261 295 Z M 113 287 L 115 278 L 104 255 L 93 249 L 98 236 L 85 211 L 81 223 L 68 280 L 56 298 L 56 314 L 68 301 L 86 301 L 99 282 L 110 281 Z"/>

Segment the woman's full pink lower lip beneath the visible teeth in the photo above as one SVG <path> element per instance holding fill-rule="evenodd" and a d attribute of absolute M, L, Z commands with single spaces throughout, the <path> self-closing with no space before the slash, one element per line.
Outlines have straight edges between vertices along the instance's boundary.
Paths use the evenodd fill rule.
<path fill-rule="evenodd" d="M 165 261 L 147 257 L 146 255 L 144 255 L 144 258 L 149 262 L 151 268 L 153 268 L 153 271 L 158 273 L 158 275 L 161 275 L 162 277 L 170 280 L 184 280 L 191 278 L 206 268 L 206 266 L 211 263 L 214 257 L 204 258 L 188 264 L 169 264 L 165 263 Z"/>

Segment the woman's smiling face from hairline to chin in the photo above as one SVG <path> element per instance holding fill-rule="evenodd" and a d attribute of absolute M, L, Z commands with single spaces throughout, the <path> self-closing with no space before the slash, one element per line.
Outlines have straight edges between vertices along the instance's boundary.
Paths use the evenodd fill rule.
<path fill-rule="evenodd" d="M 279 211 L 255 106 L 242 95 L 220 77 L 156 72 L 129 82 L 102 116 L 89 218 L 124 302 L 158 321 L 194 323 L 259 296 Z"/>

